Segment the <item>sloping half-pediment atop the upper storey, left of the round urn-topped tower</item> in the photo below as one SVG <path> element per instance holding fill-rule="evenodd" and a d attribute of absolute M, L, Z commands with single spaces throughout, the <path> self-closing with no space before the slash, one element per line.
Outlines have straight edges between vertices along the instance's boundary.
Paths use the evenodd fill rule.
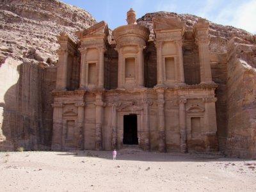
<path fill-rule="evenodd" d="M 108 31 L 108 24 L 102 20 L 101 22 L 98 22 L 94 26 L 84 29 L 84 31 L 77 31 L 76 35 L 79 36 L 79 38 L 83 38 L 86 36 L 97 36 L 97 35 L 109 35 Z"/>

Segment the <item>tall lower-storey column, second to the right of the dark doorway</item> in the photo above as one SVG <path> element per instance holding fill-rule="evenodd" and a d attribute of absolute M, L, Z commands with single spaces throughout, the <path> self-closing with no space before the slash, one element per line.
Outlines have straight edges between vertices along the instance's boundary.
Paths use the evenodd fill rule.
<path fill-rule="evenodd" d="M 158 108 L 158 150 L 166 152 L 165 146 L 165 118 L 164 118 L 164 90 L 157 90 L 157 108 Z"/>

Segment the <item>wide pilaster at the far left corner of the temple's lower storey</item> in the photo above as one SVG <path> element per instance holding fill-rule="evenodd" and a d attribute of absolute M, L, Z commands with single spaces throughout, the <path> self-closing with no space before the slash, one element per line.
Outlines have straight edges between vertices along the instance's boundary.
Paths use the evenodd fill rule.
<path fill-rule="evenodd" d="M 61 103 L 52 104 L 53 107 L 53 127 L 52 127 L 52 150 L 61 150 L 62 148 L 62 107 Z"/>

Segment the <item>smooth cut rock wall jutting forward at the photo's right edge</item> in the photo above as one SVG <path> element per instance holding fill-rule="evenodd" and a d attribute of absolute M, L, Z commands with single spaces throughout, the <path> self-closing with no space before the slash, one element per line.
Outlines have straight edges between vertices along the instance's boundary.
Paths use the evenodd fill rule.
<path fill-rule="evenodd" d="M 228 42 L 228 156 L 256 157 L 256 45 Z"/>

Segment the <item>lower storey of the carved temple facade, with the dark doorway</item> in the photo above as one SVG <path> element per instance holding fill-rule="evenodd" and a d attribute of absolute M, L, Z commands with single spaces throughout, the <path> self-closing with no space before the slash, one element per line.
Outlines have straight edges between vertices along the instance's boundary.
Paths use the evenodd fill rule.
<path fill-rule="evenodd" d="M 215 84 L 53 92 L 52 150 L 218 150 Z"/>

